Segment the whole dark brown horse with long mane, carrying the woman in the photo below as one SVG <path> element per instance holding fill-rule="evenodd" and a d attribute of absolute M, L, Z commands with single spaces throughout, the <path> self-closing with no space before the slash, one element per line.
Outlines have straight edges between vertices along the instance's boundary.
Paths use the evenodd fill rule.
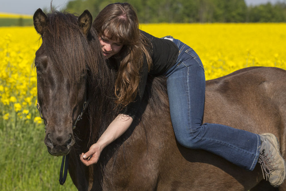
<path fill-rule="evenodd" d="M 78 18 L 59 12 L 46 16 L 38 9 L 34 25 L 43 40 L 35 66 L 38 102 L 47 122 L 45 144 L 52 155 L 69 153 L 69 174 L 78 190 L 273 189 L 258 165 L 247 172 L 176 142 L 164 77 L 150 76 L 141 117 L 102 151 L 97 164 L 84 166 L 79 154 L 88 151 L 118 114 L 116 70 L 102 56 L 88 11 Z M 73 130 L 86 100 L 90 104 Z M 207 81 L 204 122 L 273 133 L 285 157 L 286 71 L 245 68 Z"/>

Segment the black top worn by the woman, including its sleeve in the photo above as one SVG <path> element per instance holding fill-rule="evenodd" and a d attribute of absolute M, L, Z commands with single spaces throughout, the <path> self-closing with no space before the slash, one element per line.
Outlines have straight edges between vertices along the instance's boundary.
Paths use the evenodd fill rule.
<path fill-rule="evenodd" d="M 129 103 L 124 107 L 120 113 L 129 115 L 134 119 L 136 113 L 140 107 L 140 103 L 144 94 L 147 76 L 160 76 L 167 72 L 174 64 L 176 64 L 179 49 L 171 40 L 161 39 L 154 37 L 144 31 L 140 31 L 152 44 L 152 52 L 150 54 L 152 58 L 152 68 L 148 73 L 148 63 L 146 55 L 144 54 L 144 62 L 140 72 L 140 82 L 138 88 L 138 94 L 134 102 Z M 119 64 L 119 62 L 118 62 Z"/>

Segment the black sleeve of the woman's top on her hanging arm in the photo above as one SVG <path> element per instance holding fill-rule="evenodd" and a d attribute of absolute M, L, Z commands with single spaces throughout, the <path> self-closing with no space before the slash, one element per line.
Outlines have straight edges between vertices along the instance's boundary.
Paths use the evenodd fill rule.
<path fill-rule="evenodd" d="M 141 68 L 141 71 L 139 71 L 139 74 L 141 74 L 139 85 L 138 85 L 138 92 L 136 95 L 136 98 L 133 102 L 129 103 L 124 107 L 119 113 L 120 114 L 126 114 L 132 117 L 132 119 L 135 118 L 136 113 L 138 112 L 140 108 L 140 104 L 144 95 L 145 86 L 147 82 L 148 77 L 148 64 L 147 64 L 147 58 L 146 55 L 144 55 L 144 61 L 143 66 Z"/>

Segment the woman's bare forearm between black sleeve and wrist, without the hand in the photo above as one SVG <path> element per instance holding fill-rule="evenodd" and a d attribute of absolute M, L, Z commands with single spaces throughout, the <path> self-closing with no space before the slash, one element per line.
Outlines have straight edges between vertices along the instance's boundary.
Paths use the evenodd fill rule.
<path fill-rule="evenodd" d="M 98 139 L 97 143 L 101 145 L 101 149 L 120 137 L 130 127 L 132 121 L 129 115 L 119 114 Z"/>

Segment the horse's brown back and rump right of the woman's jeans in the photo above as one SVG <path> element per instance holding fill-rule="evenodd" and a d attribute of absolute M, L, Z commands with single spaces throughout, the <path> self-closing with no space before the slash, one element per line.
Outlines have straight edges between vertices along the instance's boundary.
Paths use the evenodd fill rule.
<path fill-rule="evenodd" d="M 286 71 L 251 67 L 206 82 L 204 122 L 279 135 L 286 117 Z M 283 121 L 284 123 L 284 121 Z M 275 132 L 276 131 L 276 132 Z"/>

